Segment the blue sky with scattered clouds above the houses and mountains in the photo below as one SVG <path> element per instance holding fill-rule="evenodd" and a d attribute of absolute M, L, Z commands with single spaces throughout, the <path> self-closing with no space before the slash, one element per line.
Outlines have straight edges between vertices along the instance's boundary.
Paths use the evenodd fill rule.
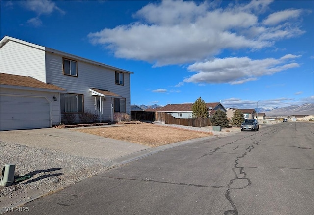
<path fill-rule="evenodd" d="M 134 72 L 131 105 L 198 97 L 237 108 L 314 102 L 314 1 L 1 0 L 0 6 L 1 39 Z"/>

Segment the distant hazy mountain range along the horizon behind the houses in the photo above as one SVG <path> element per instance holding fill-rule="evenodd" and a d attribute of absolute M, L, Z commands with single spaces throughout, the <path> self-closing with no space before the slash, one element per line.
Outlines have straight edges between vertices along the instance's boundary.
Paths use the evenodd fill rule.
<path fill-rule="evenodd" d="M 154 104 L 150 106 L 140 105 L 139 107 L 145 109 L 162 107 Z M 289 115 L 314 115 L 314 104 L 306 103 L 302 105 L 290 105 L 282 108 L 255 108 L 258 113 L 265 113 L 266 116 L 289 116 Z"/>

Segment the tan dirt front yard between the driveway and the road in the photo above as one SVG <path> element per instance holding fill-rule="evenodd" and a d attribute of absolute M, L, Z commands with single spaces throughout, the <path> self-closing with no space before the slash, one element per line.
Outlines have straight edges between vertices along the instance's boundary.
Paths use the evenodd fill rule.
<path fill-rule="evenodd" d="M 210 132 L 165 127 L 150 123 L 124 124 L 117 127 L 83 128 L 76 131 L 131 143 L 141 143 L 152 147 L 212 135 Z"/>

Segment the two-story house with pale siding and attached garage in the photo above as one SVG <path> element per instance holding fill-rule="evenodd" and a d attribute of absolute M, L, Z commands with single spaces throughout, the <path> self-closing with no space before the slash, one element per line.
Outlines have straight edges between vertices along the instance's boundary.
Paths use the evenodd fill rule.
<path fill-rule="evenodd" d="M 26 86 L 1 83 L 1 130 L 51 127 L 65 122 L 67 113 L 76 115 L 75 122 L 79 122 L 78 115 L 87 111 L 96 113 L 98 121 L 113 121 L 115 113 L 131 112 L 133 72 L 8 36 L 0 41 L 0 60 L 1 73 L 17 75 L 6 79 L 19 79 L 21 83 L 32 82 L 22 80 L 31 77 L 41 82 Z M 40 106 L 45 106 L 41 107 L 44 110 Z M 22 116 L 30 111 L 38 111 L 33 118 L 40 112 L 45 117 L 30 120 Z M 39 123 L 43 118 L 49 125 Z"/>

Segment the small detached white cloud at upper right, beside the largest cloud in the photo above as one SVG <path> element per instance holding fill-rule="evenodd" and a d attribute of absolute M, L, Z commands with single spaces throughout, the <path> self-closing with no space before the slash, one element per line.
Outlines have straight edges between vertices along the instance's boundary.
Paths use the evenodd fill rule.
<path fill-rule="evenodd" d="M 270 14 L 264 21 L 263 24 L 275 25 L 281 22 L 285 22 L 292 18 L 297 18 L 302 13 L 302 10 L 283 10 Z"/>

